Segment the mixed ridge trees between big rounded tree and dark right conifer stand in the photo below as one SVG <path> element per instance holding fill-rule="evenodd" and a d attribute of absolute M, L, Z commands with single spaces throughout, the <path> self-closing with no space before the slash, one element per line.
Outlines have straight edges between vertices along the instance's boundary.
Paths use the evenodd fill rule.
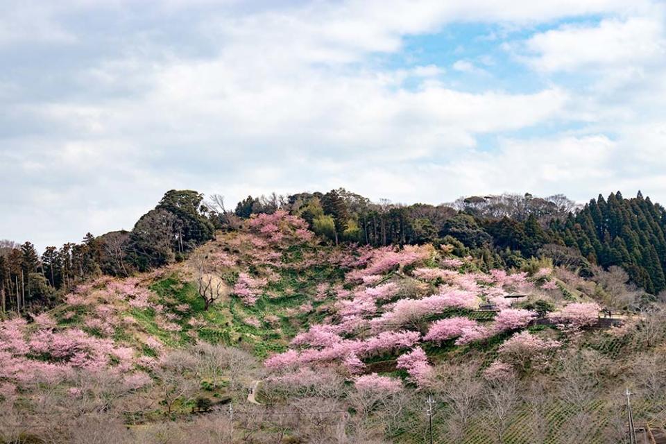
<path fill-rule="evenodd" d="M 514 266 L 515 256 L 522 253 L 524 257 L 537 255 L 554 240 L 549 222 L 565 219 L 577 205 L 562 195 L 536 198 L 530 194 L 473 196 L 443 205 L 402 205 L 373 203 L 336 189 L 326 194 L 248 196 L 237 205 L 234 216 L 246 219 L 277 210 L 302 217 L 314 232 L 334 243 L 375 247 L 446 243 L 454 245 L 460 255 L 481 257 L 491 267 Z"/>

